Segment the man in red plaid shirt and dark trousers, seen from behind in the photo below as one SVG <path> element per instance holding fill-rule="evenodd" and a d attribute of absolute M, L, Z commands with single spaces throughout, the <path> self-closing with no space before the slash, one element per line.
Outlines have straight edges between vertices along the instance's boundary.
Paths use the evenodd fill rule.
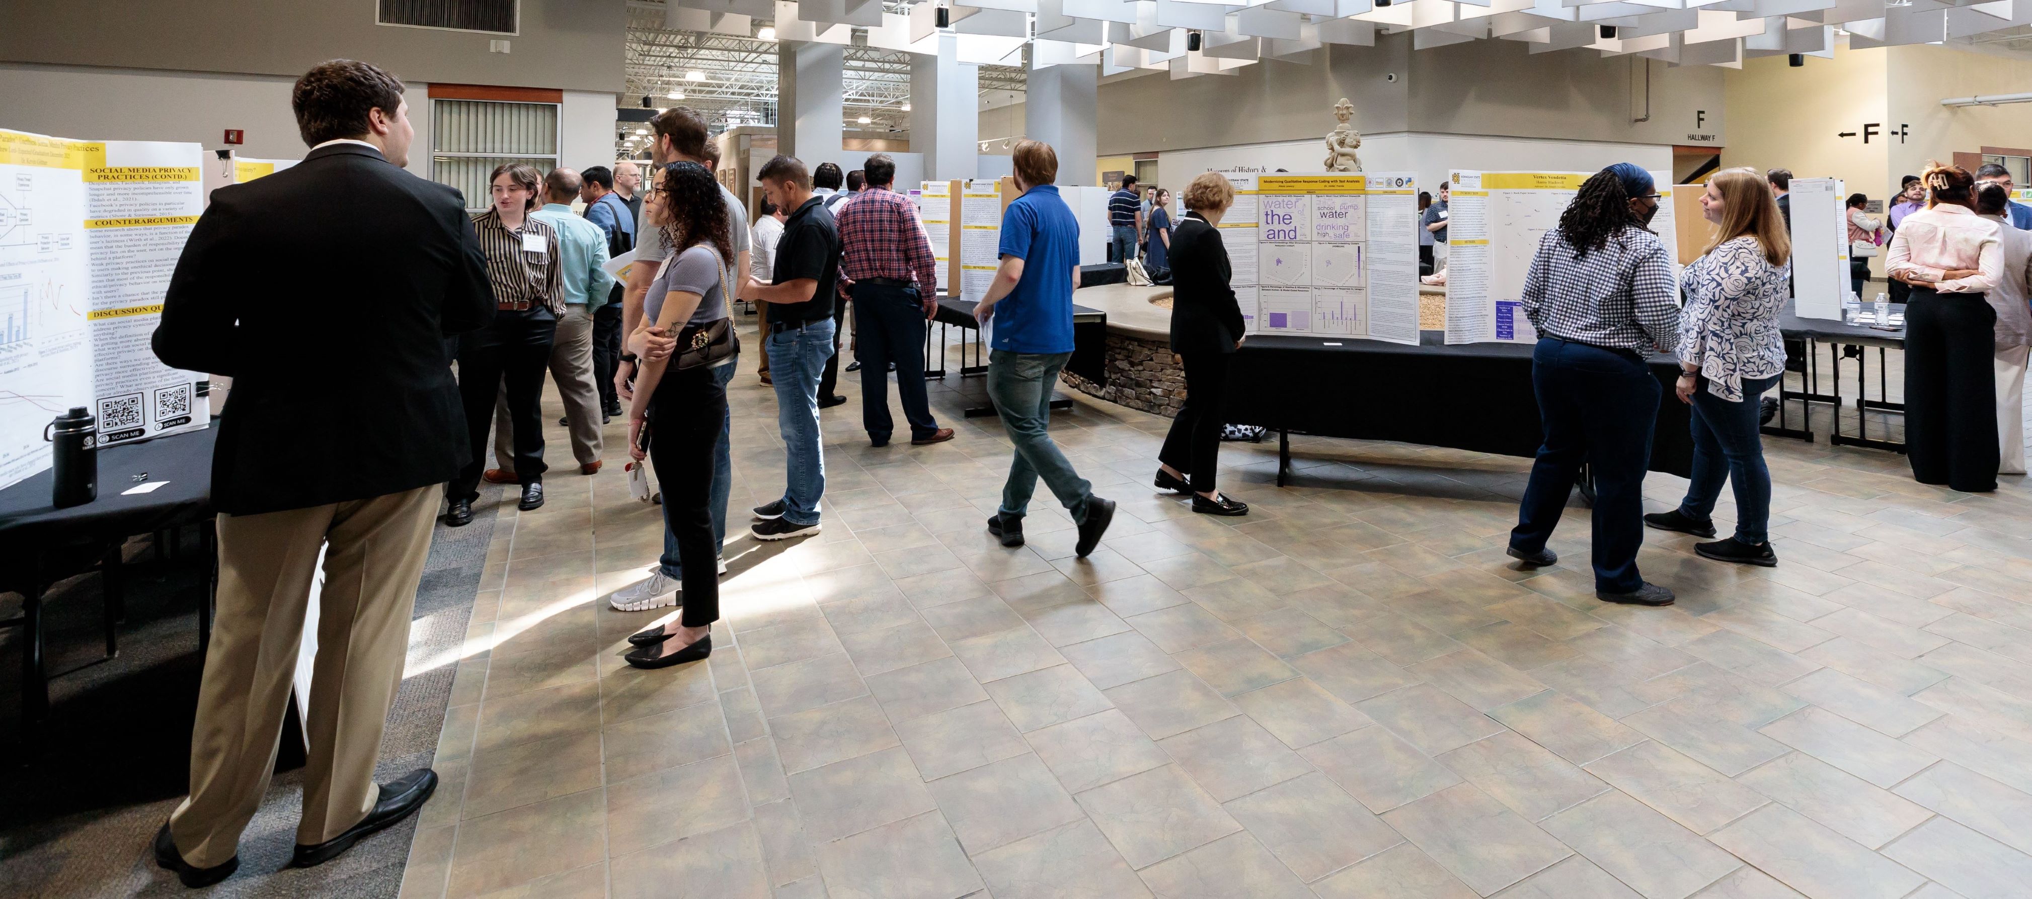
<path fill-rule="evenodd" d="M 862 361 L 862 426 L 868 440 L 886 446 L 894 420 L 888 412 L 888 363 L 896 363 L 896 394 L 910 422 L 910 444 L 953 438 L 931 416 L 925 396 L 925 321 L 939 310 L 939 260 L 916 219 L 916 205 L 892 189 L 896 160 L 868 156 L 868 189 L 839 207 L 839 266 L 843 294 L 853 298 L 855 357 Z"/>

